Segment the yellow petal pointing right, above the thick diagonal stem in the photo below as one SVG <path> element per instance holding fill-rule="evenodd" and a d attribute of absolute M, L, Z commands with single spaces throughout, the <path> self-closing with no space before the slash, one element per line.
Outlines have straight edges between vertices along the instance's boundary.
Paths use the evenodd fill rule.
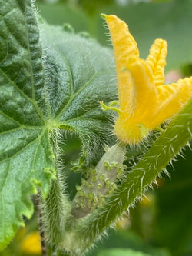
<path fill-rule="evenodd" d="M 184 78 L 171 85 L 157 87 L 158 100 L 151 127 L 160 125 L 168 118 L 173 117 L 180 111 L 185 103 L 192 97 L 192 77 Z"/>

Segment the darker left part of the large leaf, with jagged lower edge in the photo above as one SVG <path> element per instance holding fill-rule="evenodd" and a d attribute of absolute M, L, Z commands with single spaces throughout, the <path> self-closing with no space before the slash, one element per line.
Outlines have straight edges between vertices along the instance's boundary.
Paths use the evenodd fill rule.
<path fill-rule="evenodd" d="M 0 249 L 13 238 L 36 185 L 48 192 L 54 155 L 45 128 L 44 71 L 31 1 L 0 2 Z"/>

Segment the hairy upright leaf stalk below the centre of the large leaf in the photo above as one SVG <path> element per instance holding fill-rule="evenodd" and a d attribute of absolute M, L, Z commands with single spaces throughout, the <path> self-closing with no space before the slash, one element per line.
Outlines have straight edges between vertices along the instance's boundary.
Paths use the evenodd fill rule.
<path fill-rule="evenodd" d="M 68 218 L 71 216 L 71 204 L 64 194 L 60 183 L 60 168 L 58 168 L 58 141 L 56 132 L 51 133 L 51 144 L 55 152 L 55 165 L 58 170 L 57 180 L 51 181 L 51 188 L 44 201 L 43 219 L 45 221 L 45 234 L 51 245 L 59 245 L 65 240 L 65 229 Z"/>

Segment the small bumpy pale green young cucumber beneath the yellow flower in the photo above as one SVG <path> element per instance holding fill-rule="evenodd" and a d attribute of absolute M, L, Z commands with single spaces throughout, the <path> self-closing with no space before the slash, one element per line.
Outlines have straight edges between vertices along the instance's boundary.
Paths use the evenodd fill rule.
<path fill-rule="evenodd" d="M 105 198 L 110 196 L 116 188 L 116 182 L 124 174 L 125 147 L 116 144 L 108 149 L 95 169 L 89 169 L 87 180 L 81 180 L 81 186 L 77 186 L 77 194 L 74 197 L 71 214 L 75 218 L 82 218 L 104 204 Z"/>

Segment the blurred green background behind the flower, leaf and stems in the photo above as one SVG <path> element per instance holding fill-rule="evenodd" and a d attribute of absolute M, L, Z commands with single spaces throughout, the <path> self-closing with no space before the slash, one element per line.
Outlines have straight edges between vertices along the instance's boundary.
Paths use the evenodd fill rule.
<path fill-rule="evenodd" d="M 100 13 L 118 15 L 129 25 L 141 57 L 147 56 L 155 38 L 164 38 L 169 45 L 166 72 L 176 71 L 176 77 L 192 75 L 192 0 L 38 0 L 35 5 L 48 23 L 68 23 L 74 32 L 91 36 L 108 47 L 111 43 Z M 169 74 L 170 81 L 174 81 L 175 72 Z M 78 138 L 65 138 L 64 150 L 67 171 L 80 154 L 81 142 Z M 167 169 L 171 178 L 162 175 L 159 187 L 154 185 L 154 190 L 147 191 L 147 198 L 137 202 L 129 215 L 117 222 L 117 231 L 111 230 L 88 256 L 192 256 L 190 149 L 186 148 L 184 158 L 179 156 Z M 71 188 L 78 181 L 79 175 L 69 173 L 71 198 Z M 37 226 L 35 212 L 0 255 L 41 255 Z"/>

